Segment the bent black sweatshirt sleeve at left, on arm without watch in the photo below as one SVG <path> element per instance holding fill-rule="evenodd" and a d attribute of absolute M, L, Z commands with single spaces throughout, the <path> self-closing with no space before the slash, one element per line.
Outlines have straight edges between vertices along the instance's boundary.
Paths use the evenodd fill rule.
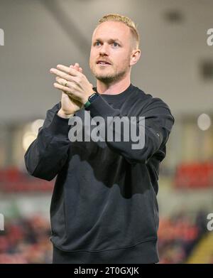
<path fill-rule="evenodd" d="M 47 181 L 55 178 L 62 169 L 70 146 L 69 119 L 59 117 L 59 109 L 60 103 L 47 111 L 43 127 L 39 128 L 37 138 L 24 155 L 28 173 Z"/>

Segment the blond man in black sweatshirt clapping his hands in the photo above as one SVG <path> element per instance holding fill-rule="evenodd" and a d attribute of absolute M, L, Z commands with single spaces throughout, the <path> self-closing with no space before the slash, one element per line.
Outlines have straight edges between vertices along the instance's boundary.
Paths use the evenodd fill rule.
<path fill-rule="evenodd" d="M 62 90 L 61 102 L 48 110 L 25 161 L 35 177 L 50 181 L 57 176 L 50 205 L 53 263 L 159 261 L 158 174 L 174 118 L 163 100 L 131 84 L 131 67 L 141 55 L 138 46 L 133 21 L 109 14 L 92 36 L 89 65 L 97 87 L 77 63 L 50 70 L 55 88 Z M 90 140 L 85 135 L 72 140 L 75 117 L 88 133 L 86 114 L 102 122 L 99 135 L 111 131 L 123 140 L 111 140 L 107 133 L 99 141 L 92 134 Z M 131 117 L 137 117 L 142 147 L 133 147 L 133 137 L 124 140 L 131 132 L 126 127 L 114 127 L 115 118 L 126 125 Z"/>

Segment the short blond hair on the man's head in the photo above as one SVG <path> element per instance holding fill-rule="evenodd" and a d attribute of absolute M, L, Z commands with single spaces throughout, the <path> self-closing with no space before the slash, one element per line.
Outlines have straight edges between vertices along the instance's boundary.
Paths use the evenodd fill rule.
<path fill-rule="evenodd" d="M 131 18 L 127 16 L 121 16 L 120 14 L 106 14 L 105 16 L 102 16 L 102 18 L 99 19 L 97 26 L 99 24 L 106 22 L 106 21 L 119 21 L 124 23 L 126 26 L 130 28 L 131 35 L 133 36 L 133 45 L 138 48 L 140 43 L 140 37 L 138 30 L 136 28 L 136 24 L 131 20 Z"/>

